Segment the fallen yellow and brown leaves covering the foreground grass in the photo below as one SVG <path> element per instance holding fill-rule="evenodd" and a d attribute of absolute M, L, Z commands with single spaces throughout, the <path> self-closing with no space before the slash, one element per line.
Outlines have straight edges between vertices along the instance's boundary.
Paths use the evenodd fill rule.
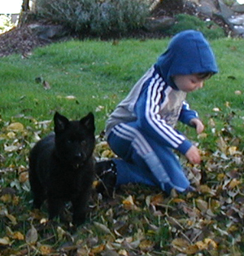
<path fill-rule="evenodd" d="M 182 158 L 197 192 L 173 191 L 166 196 L 157 188 L 129 184 L 109 198 L 94 190 L 89 218 L 76 229 L 69 222 L 68 210 L 65 221 L 54 222 L 48 221 L 45 206 L 41 211 L 31 210 L 28 151 L 52 125 L 22 118 L 28 118 L 33 128 L 24 127 L 21 118 L 1 121 L 2 256 L 243 255 L 243 154 L 233 128 L 225 126 L 214 135 L 216 150 L 202 148 L 200 166 Z M 113 157 L 102 135 L 97 139 L 96 157 Z"/>

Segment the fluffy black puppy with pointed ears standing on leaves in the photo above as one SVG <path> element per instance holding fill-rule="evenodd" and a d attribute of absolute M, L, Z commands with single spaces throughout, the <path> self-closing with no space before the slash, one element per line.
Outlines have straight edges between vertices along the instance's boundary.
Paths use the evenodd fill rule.
<path fill-rule="evenodd" d="M 68 121 L 54 115 L 54 133 L 41 139 L 29 155 L 29 182 L 33 207 L 47 199 L 49 218 L 58 216 L 65 201 L 72 202 L 72 223 L 85 222 L 94 180 L 94 115 Z"/>

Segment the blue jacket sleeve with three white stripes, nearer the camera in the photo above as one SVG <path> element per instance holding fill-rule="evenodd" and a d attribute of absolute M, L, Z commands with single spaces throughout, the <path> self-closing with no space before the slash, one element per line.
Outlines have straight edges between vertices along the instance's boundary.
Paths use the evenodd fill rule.
<path fill-rule="evenodd" d="M 192 143 L 185 136 L 168 126 L 159 115 L 159 106 L 162 102 L 164 82 L 161 77 L 153 77 L 148 85 L 143 87 L 141 95 L 135 105 L 137 122 L 140 129 L 162 146 L 175 148 L 185 154 Z"/>

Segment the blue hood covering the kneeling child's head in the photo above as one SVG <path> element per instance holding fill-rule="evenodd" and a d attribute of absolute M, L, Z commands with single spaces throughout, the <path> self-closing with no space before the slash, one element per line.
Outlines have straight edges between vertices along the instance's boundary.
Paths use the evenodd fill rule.
<path fill-rule="evenodd" d="M 216 58 L 203 33 L 185 30 L 177 33 L 168 44 L 168 49 L 159 56 L 156 68 L 172 87 L 171 77 L 193 73 L 218 73 Z"/>

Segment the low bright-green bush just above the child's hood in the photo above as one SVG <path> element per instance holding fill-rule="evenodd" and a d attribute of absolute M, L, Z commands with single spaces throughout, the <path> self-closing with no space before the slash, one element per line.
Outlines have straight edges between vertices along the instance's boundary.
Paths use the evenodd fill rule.
<path fill-rule="evenodd" d="M 166 31 L 169 36 L 175 35 L 186 29 L 201 31 L 208 39 L 224 38 L 224 30 L 211 20 L 200 20 L 193 15 L 179 14 L 175 16 L 176 24 Z"/>

